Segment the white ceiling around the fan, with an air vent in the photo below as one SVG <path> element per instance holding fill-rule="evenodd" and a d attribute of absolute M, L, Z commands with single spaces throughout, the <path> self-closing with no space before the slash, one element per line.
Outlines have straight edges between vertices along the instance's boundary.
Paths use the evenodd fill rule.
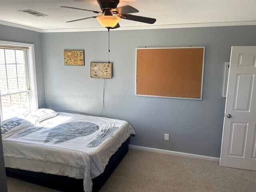
<path fill-rule="evenodd" d="M 69 10 L 72 6 L 100 11 L 96 0 L 1 0 L 0 24 L 18 24 L 49 32 L 53 29 L 101 29 L 96 19 L 66 23 L 84 17 L 96 16 L 93 12 Z M 140 10 L 135 15 L 156 18 L 154 28 L 193 24 L 242 25 L 256 24 L 256 0 L 120 0 L 118 6 L 130 5 Z M 31 9 L 48 16 L 36 17 L 18 10 Z M 6 23 L 7 22 L 7 23 Z M 150 24 L 121 20 L 125 28 L 147 28 Z M 152 26 L 151 26 L 152 28 Z M 122 29 L 122 28 L 120 28 Z"/>

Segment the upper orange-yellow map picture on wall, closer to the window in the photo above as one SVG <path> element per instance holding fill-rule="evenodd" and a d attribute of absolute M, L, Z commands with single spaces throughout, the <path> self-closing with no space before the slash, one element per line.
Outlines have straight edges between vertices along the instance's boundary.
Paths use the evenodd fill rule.
<path fill-rule="evenodd" d="M 65 65 L 84 65 L 84 50 L 64 50 Z"/>

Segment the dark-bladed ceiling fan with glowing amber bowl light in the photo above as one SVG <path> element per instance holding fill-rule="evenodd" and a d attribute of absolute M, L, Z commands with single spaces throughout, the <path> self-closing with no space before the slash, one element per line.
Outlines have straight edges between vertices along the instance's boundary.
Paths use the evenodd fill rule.
<path fill-rule="evenodd" d="M 83 10 L 83 11 L 90 11 L 94 12 L 96 14 L 99 14 L 98 16 L 92 16 L 77 20 L 72 20 L 68 22 L 75 22 L 75 21 L 81 21 L 85 19 L 90 18 L 96 18 L 100 24 L 109 29 L 116 29 L 119 28 L 119 21 L 120 19 L 126 19 L 126 20 L 133 20 L 148 24 L 154 24 L 156 22 L 156 19 L 154 18 L 148 18 L 148 17 L 142 17 L 142 16 L 136 16 L 131 15 L 130 13 L 138 13 L 139 11 L 132 6 L 122 6 L 118 7 L 119 0 L 97 0 L 98 4 L 100 5 L 100 9 L 102 12 L 99 11 L 93 11 L 93 10 L 87 10 L 87 9 L 81 9 L 81 8 L 75 8 L 75 7 L 67 7 L 67 6 L 61 6 L 63 8 L 70 8 L 70 9 L 76 9 L 76 10 Z"/>

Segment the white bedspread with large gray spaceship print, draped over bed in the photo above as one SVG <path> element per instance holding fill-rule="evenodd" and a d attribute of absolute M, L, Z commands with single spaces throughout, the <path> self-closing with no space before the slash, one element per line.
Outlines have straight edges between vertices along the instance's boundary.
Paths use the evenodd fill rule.
<path fill-rule="evenodd" d="M 92 191 L 110 157 L 135 134 L 123 120 L 58 113 L 3 140 L 5 166 L 84 179 Z"/>

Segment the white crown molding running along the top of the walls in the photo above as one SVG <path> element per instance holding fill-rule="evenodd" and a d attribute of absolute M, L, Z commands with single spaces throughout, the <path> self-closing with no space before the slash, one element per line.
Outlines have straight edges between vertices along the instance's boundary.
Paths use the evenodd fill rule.
<path fill-rule="evenodd" d="M 105 28 L 73 28 L 73 29 L 38 29 L 20 24 L 14 24 L 10 22 L 0 21 L 0 24 L 22 28 L 26 30 L 32 30 L 42 33 L 52 32 L 91 32 L 91 31 L 105 31 Z M 145 30 L 145 29 L 171 29 L 171 28 L 198 28 L 198 27 L 220 27 L 220 26 L 244 26 L 244 25 L 256 25 L 256 21 L 234 21 L 234 22 L 211 22 L 211 23 L 192 23 L 192 24 L 170 24 L 170 25 L 150 25 L 150 26 L 128 26 L 120 27 L 115 30 Z"/>

